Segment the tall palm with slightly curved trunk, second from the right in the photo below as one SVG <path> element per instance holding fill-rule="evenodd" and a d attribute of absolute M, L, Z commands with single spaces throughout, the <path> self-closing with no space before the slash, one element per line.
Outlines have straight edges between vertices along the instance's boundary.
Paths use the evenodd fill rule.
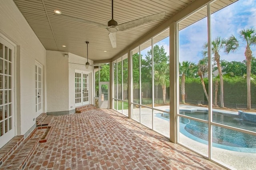
<path fill-rule="evenodd" d="M 214 41 L 212 41 L 212 54 L 214 54 L 214 60 L 216 61 L 217 67 L 218 67 L 218 73 L 220 76 L 220 107 L 224 107 L 224 90 L 223 90 L 223 76 L 222 76 L 222 70 L 220 67 L 220 50 L 224 48 L 226 45 L 226 40 L 221 39 L 220 37 L 216 37 Z M 208 43 L 204 44 L 204 49 L 208 49 Z M 208 51 L 203 51 L 204 56 L 207 56 Z"/>

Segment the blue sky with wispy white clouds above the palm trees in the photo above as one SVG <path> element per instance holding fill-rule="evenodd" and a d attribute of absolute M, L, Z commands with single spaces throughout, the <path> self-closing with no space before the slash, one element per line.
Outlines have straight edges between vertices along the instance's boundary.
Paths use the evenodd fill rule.
<path fill-rule="evenodd" d="M 207 42 L 207 18 L 179 31 L 179 61 L 191 61 L 198 63 L 202 59 L 203 44 Z M 234 35 L 239 38 L 238 33 L 242 29 L 256 29 L 256 0 L 239 0 L 233 4 L 215 12 L 211 16 L 212 41 L 216 37 L 228 38 Z M 158 42 L 157 45 L 164 46 L 169 55 L 169 37 Z M 244 46 L 236 53 L 225 54 L 220 51 L 220 59 L 226 61 L 243 61 Z M 252 47 L 252 54 L 256 56 L 256 47 Z"/>

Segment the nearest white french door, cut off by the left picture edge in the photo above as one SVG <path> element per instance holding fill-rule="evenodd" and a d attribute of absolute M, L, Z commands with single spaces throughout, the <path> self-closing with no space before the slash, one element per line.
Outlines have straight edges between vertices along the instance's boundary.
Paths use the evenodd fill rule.
<path fill-rule="evenodd" d="M 15 136 L 14 46 L 0 36 L 0 148 Z"/>

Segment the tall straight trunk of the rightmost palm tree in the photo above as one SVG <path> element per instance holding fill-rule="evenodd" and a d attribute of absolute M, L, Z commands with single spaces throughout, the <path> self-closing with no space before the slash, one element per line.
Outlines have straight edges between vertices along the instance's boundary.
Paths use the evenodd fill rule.
<path fill-rule="evenodd" d="M 251 108 L 251 61 L 252 61 L 252 51 L 249 46 L 246 46 L 244 52 L 246 57 L 246 84 L 247 84 L 247 109 Z"/>

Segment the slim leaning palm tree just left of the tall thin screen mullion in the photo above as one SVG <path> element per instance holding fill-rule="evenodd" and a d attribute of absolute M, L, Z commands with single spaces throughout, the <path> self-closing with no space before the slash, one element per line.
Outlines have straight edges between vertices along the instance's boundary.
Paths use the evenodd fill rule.
<path fill-rule="evenodd" d="M 205 84 L 204 84 L 204 73 L 208 71 L 208 63 L 207 63 L 207 60 L 208 58 L 207 57 L 204 57 L 204 59 L 201 59 L 199 62 L 198 62 L 198 76 L 200 76 L 201 78 L 201 83 L 202 83 L 202 86 L 203 86 L 203 89 L 204 89 L 204 94 L 206 96 L 206 99 L 208 101 L 208 94 L 207 94 L 207 91 L 206 91 L 206 88 L 205 88 Z"/>

